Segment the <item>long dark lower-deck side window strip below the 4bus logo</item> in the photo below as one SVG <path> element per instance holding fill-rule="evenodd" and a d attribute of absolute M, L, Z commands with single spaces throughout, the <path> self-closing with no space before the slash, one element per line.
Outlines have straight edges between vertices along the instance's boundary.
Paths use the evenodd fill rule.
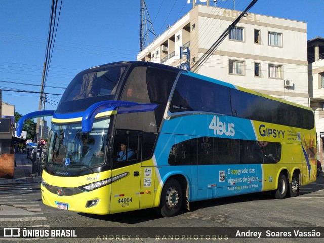
<path fill-rule="evenodd" d="M 311 152 L 310 152 L 311 154 Z M 281 144 L 251 140 L 200 137 L 174 144 L 169 165 L 275 164 Z"/>

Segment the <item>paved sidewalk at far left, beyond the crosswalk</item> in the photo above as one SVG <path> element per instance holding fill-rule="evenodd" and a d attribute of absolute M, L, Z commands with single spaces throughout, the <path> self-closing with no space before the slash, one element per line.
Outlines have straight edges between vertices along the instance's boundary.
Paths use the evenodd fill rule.
<path fill-rule="evenodd" d="M 15 153 L 17 166 L 14 169 L 14 178 L 0 178 L 0 185 L 42 182 L 42 177 L 38 176 L 38 173 L 36 178 L 35 174 L 31 174 L 32 162 L 29 158 L 26 158 L 26 156 L 25 153 Z"/>

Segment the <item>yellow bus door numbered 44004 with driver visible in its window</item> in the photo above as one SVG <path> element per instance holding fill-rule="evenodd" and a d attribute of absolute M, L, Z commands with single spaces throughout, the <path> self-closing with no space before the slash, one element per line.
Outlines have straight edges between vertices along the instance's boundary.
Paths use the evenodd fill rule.
<path fill-rule="evenodd" d="M 139 209 L 141 140 L 141 132 L 115 130 L 110 213 Z"/>

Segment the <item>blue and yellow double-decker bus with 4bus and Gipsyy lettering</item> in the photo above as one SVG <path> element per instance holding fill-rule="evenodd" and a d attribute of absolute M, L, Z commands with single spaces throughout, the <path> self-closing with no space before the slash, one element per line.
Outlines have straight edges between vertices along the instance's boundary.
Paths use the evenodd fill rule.
<path fill-rule="evenodd" d="M 308 107 L 186 70 L 117 62 L 77 74 L 53 115 L 42 199 L 90 214 L 271 191 L 296 196 L 316 180 Z"/>

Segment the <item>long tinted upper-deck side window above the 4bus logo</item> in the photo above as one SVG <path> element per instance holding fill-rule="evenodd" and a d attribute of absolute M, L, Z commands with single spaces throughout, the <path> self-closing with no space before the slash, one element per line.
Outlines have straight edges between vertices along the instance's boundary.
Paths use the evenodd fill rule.
<path fill-rule="evenodd" d="M 171 112 L 202 111 L 304 129 L 314 128 L 313 112 L 182 74 Z"/>

